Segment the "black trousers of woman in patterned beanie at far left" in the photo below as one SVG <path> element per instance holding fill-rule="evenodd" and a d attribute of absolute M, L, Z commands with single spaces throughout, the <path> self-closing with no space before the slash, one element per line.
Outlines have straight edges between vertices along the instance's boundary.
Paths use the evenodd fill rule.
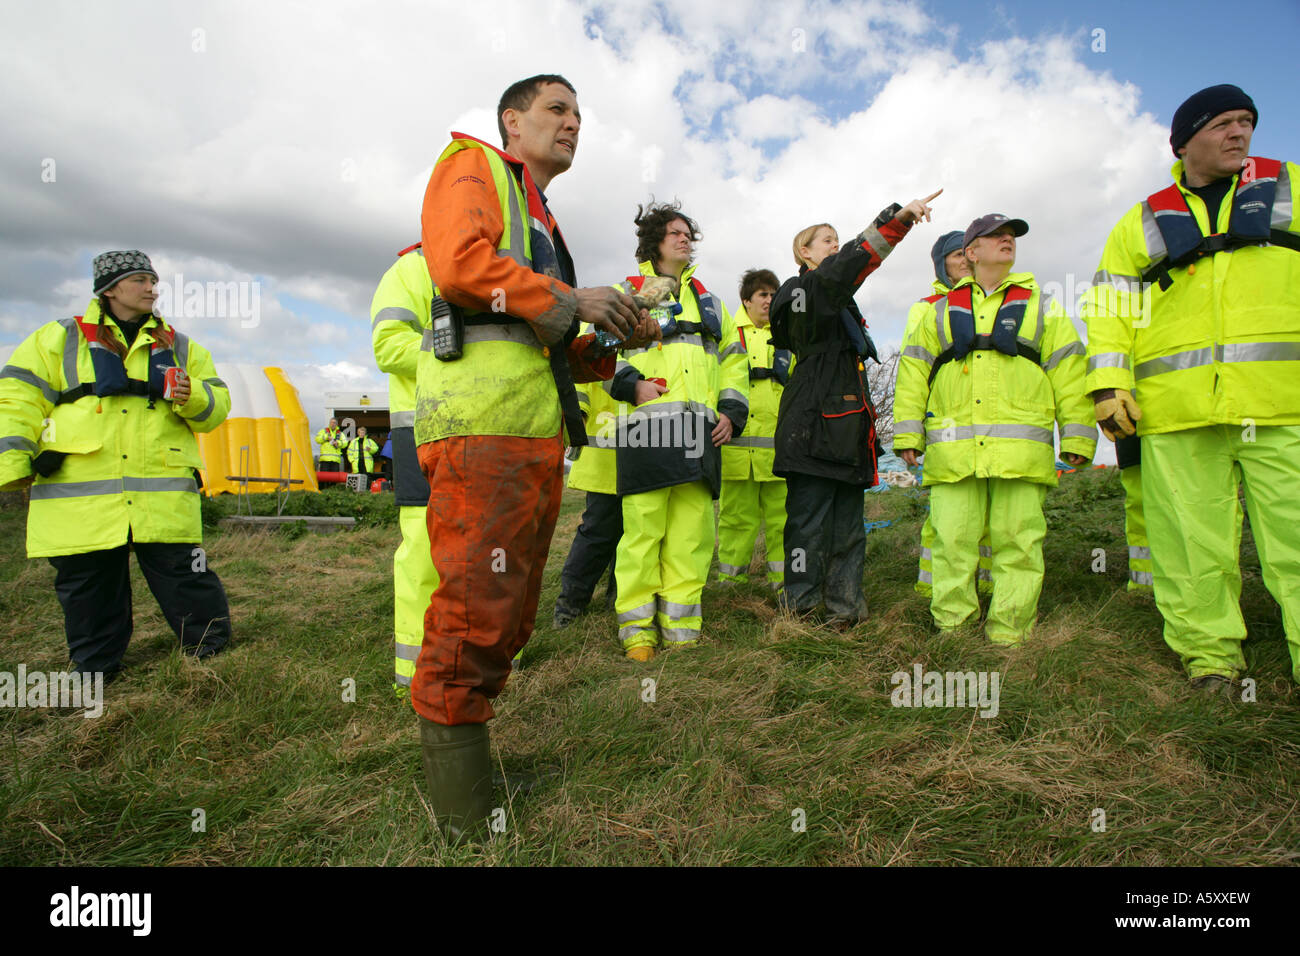
<path fill-rule="evenodd" d="M 131 640 L 130 550 L 157 598 L 181 650 L 217 653 L 230 640 L 230 606 L 221 579 L 196 544 L 140 544 L 48 558 L 64 609 L 68 656 L 77 670 L 110 676 Z M 196 570 L 199 568 L 199 570 Z"/>

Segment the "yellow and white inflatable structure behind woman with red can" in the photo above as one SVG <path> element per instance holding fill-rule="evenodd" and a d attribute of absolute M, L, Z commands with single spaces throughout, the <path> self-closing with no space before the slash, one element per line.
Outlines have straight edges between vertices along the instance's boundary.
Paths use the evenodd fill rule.
<path fill-rule="evenodd" d="M 230 388 L 230 415 L 211 432 L 196 434 L 203 455 L 203 492 L 238 492 L 239 449 L 248 446 L 250 477 L 280 475 L 282 449 L 289 449 L 289 477 L 300 479 L 292 490 L 317 492 L 312 462 L 312 436 L 298 389 L 278 368 L 217 363 L 217 376 Z M 256 481 L 250 492 L 273 492 L 274 483 Z"/>

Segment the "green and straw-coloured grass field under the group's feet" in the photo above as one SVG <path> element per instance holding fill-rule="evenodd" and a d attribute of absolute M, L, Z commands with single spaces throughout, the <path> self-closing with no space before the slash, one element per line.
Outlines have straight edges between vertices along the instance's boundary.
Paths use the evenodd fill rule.
<path fill-rule="evenodd" d="M 1249 533 L 1257 700 L 1212 698 L 1123 591 L 1115 470 L 1062 481 L 1020 649 L 932 635 L 911 589 L 926 499 L 893 490 L 867 497 L 868 519 L 893 520 L 867 537 L 868 624 L 807 627 L 757 579 L 710 583 L 706 645 L 650 665 L 623 658 L 612 611 L 550 627 L 582 505 L 567 492 L 540 627 L 491 724 L 504 769 L 556 773 L 503 806 L 488 845 L 450 849 L 391 692 L 390 499 L 312 499 L 360 514 L 337 535 L 209 531 L 235 645 L 181 658 L 134 570 L 130 671 L 104 714 L 0 710 L 0 865 L 1295 864 L 1300 695 Z M 23 557 L 25 511 L 3 497 L 0 671 L 58 670 L 53 568 Z M 890 675 L 914 663 L 997 671 L 998 714 L 892 706 Z"/>

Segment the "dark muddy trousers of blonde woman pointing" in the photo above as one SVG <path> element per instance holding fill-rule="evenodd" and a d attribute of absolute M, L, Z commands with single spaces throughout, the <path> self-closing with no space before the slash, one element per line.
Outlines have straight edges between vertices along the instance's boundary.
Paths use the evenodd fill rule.
<path fill-rule="evenodd" d="M 783 602 L 796 614 L 807 614 L 824 601 L 832 619 L 864 620 L 862 486 L 798 473 L 788 475 L 785 486 Z"/>

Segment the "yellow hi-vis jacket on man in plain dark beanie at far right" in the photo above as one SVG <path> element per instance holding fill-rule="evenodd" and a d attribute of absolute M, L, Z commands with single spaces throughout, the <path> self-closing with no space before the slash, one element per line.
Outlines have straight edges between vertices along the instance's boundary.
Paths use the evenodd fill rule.
<path fill-rule="evenodd" d="M 1171 172 L 1201 234 L 1227 233 L 1239 177 L 1209 230 L 1205 203 L 1183 185 L 1183 161 Z M 1274 189 L 1273 229 L 1300 233 L 1300 168 L 1283 163 Z M 1139 434 L 1247 419 L 1300 424 L 1300 252 L 1221 251 L 1170 269 L 1167 289 L 1144 287 L 1141 274 L 1166 255 L 1148 200 L 1110 232 L 1082 308 L 1088 392 L 1131 390 L 1143 412 Z"/>

